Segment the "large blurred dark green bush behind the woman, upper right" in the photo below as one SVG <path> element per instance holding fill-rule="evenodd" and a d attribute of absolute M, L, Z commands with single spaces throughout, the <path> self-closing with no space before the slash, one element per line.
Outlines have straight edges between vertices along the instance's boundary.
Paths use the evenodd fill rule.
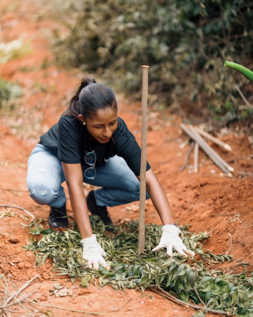
<path fill-rule="evenodd" d="M 244 111 L 232 87 L 235 81 L 238 87 L 248 81 L 225 69 L 223 63 L 230 60 L 252 68 L 252 2 L 56 3 L 62 9 L 58 17 L 69 29 L 64 38 L 55 32 L 53 50 L 60 66 L 97 72 L 107 84 L 133 94 L 141 89 L 140 66 L 147 64 L 154 106 L 169 105 L 177 96 L 197 105 L 207 104 L 217 119 Z M 248 91 L 244 94 L 248 97 Z"/>

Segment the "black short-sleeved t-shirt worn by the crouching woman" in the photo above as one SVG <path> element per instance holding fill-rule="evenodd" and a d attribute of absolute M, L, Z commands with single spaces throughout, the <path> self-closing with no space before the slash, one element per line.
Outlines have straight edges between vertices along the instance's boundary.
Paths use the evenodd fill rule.
<path fill-rule="evenodd" d="M 87 127 L 74 117 L 62 115 L 58 124 L 40 136 L 40 143 L 50 151 L 57 152 L 63 163 L 89 166 L 84 160 L 85 152 L 92 146 Z M 121 156 L 136 176 L 140 175 L 141 150 L 125 122 L 118 117 L 118 126 L 107 143 L 99 143 L 95 149 L 96 166 L 103 166 L 114 155 Z M 147 162 L 148 171 L 150 165 Z"/>

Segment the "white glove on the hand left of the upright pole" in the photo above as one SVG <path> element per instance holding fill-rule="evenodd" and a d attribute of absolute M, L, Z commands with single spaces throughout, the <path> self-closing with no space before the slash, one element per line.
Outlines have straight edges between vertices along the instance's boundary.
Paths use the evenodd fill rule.
<path fill-rule="evenodd" d="M 95 234 L 89 238 L 81 240 L 80 242 L 83 245 L 82 256 L 85 260 L 87 260 L 89 268 L 92 268 L 93 264 L 93 268 L 98 270 L 99 264 L 101 264 L 105 269 L 111 269 L 103 259 L 106 256 L 106 253 L 97 242 Z"/>

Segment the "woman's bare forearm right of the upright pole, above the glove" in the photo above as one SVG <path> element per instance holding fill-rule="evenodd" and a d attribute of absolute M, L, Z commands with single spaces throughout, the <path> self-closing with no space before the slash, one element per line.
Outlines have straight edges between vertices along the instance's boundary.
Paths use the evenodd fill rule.
<path fill-rule="evenodd" d="M 139 176 L 137 176 L 137 178 L 140 180 Z M 146 172 L 146 190 L 149 193 L 163 225 L 174 223 L 168 198 L 152 169 Z"/>

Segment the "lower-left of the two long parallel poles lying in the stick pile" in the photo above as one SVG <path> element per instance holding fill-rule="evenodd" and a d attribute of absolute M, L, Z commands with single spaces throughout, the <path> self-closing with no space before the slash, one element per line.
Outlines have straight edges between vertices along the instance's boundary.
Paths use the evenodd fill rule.
<path fill-rule="evenodd" d="M 232 176 L 232 174 L 229 172 L 229 170 L 221 163 L 221 161 L 216 157 L 216 155 L 213 154 L 213 149 L 211 146 L 207 144 L 207 142 L 196 132 L 196 130 L 189 126 L 189 128 L 181 123 L 182 130 L 187 133 L 194 141 L 198 142 L 201 149 L 207 153 L 207 155 L 210 157 L 210 159 L 213 160 L 213 162 L 228 176 Z M 191 128 L 191 129 L 190 129 Z M 217 154 L 217 153 L 216 153 Z M 218 154 L 217 154 L 218 155 Z M 219 155 L 218 155 L 219 156 Z"/>

